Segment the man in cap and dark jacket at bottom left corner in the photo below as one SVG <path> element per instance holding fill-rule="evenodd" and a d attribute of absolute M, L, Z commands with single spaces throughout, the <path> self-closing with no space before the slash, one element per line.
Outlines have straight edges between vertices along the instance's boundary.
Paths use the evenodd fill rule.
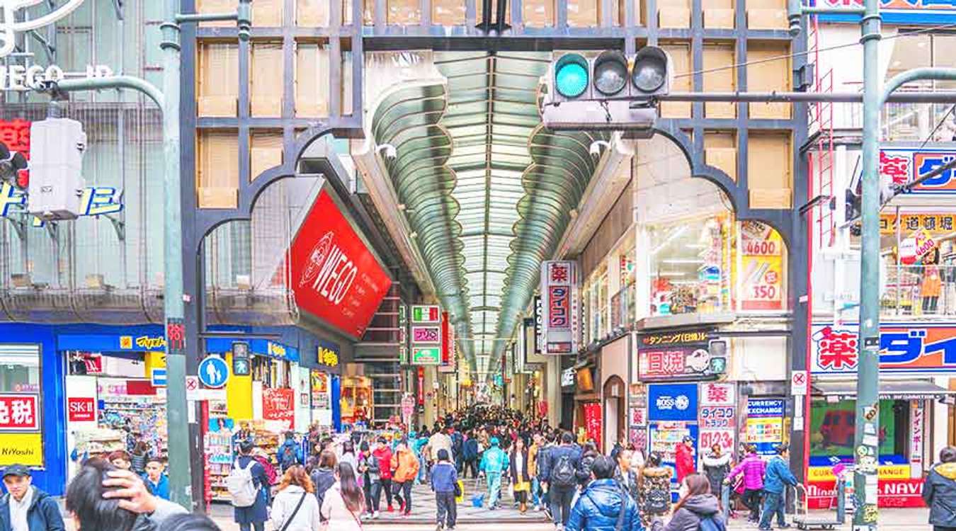
<path fill-rule="evenodd" d="M 11 465 L 3 472 L 7 495 L 0 498 L 0 531 L 63 531 L 59 505 L 33 486 L 30 469 Z"/>

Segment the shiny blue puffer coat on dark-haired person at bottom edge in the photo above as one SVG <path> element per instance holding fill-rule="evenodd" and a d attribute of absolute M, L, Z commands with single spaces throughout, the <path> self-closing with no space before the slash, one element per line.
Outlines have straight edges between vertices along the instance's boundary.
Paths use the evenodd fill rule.
<path fill-rule="evenodd" d="M 637 503 L 620 490 L 614 479 L 596 479 L 581 491 L 565 529 L 615 531 L 621 511 L 624 511 L 621 531 L 643 531 Z"/>

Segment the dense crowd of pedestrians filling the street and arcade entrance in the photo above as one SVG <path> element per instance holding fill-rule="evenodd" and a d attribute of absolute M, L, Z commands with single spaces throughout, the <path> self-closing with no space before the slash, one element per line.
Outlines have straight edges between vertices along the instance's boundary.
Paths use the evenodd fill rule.
<path fill-rule="evenodd" d="M 226 479 L 234 519 L 242 531 L 357 531 L 380 511 L 411 514 L 413 486 L 435 493 L 439 530 L 454 529 L 469 475 L 482 482 L 472 501 L 489 511 L 503 506 L 511 486 L 514 507 L 543 511 L 566 531 L 719 531 L 726 529 L 721 492 L 750 511 L 760 529 L 789 527 L 785 488 L 796 484 L 786 445 L 769 460 L 745 447 L 738 460 L 714 446 L 694 457 L 686 437 L 674 449 L 675 466 L 662 456 L 616 444 L 607 455 L 596 441 L 553 428 L 546 421 L 498 407 L 447 415 L 431 429 L 384 436 L 353 433 L 333 438 L 287 434 L 273 456 L 238 432 L 236 458 Z M 956 448 L 947 447 L 929 472 L 923 498 L 934 531 L 956 529 Z M 700 468 L 698 469 L 697 464 Z M 66 493 L 78 530 L 207 531 L 218 527 L 168 500 L 161 459 L 125 452 L 87 457 Z M 672 474 L 680 486 L 672 503 Z M 0 531 L 64 531 L 56 500 L 32 484 L 31 471 L 3 471 Z M 382 496 L 384 495 L 384 496 Z M 384 498 L 384 499 L 382 499 Z M 666 521 L 665 521 L 666 520 Z"/>

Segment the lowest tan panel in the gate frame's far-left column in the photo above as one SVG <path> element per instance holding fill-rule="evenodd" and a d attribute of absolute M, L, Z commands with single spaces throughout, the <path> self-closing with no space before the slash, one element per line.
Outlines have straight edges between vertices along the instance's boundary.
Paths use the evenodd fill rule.
<path fill-rule="evenodd" d="M 239 143 L 235 131 L 200 131 L 196 183 L 200 208 L 235 208 L 239 188 Z"/>

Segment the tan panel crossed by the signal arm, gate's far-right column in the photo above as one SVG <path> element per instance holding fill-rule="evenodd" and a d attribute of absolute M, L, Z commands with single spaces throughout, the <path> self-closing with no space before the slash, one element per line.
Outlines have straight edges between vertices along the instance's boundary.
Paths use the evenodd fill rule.
<path fill-rule="evenodd" d="M 748 44 L 747 90 L 750 92 L 791 90 L 789 53 L 789 44 Z M 790 118 L 790 113 L 791 104 L 785 101 L 750 103 L 751 118 L 787 119 Z"/>

